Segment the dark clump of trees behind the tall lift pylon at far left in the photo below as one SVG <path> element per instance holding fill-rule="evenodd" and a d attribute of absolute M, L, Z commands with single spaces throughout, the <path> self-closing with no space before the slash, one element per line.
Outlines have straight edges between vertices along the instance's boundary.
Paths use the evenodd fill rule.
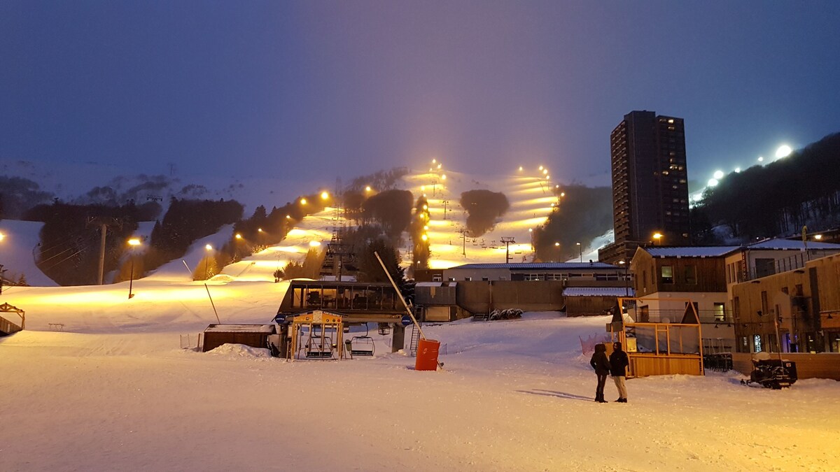
<path fill-rule="evenodd" d="M 37 205 L 23 218 L 44 222 L 35 262 L 45 275 L 60 285 L 99 283 L 102 225 L 107 228 L 104 272 L 114 270 L 126 241 L 137 229 L 137 222 L 154 218 L 160 205 L 129 202 L 118 207 L 69 205 L 54 202 Z"/>

